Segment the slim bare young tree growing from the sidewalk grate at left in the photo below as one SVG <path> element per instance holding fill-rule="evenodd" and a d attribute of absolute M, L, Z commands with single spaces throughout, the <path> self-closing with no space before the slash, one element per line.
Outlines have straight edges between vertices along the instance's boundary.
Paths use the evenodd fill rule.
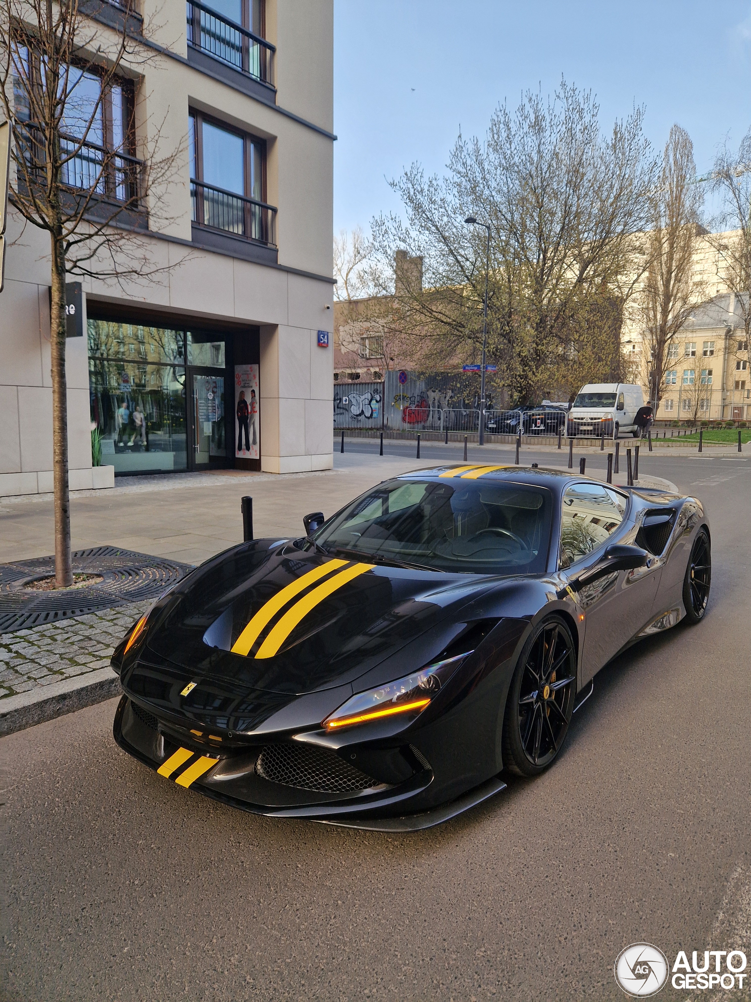
<path fill-rule="evenodd" d="M 124 24 L 132 0 L 121 4 Z M 152 278 L 149 188 L 168 182 L 159 129 L 136 158 L 134 68 L 153 58 L 127 30 L 96 26 L 78 0 L 2 0 L 0 100 L 12 131 L 9 199 L 49 234 L 55 583 L 72 583 L 65 374 L 66 276 Z"/>

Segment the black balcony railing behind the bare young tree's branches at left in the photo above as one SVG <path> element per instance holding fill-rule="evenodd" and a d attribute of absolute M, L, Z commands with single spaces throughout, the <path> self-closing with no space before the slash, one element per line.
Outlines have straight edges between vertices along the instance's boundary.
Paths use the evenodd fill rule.
<path fill-rule="evenodd" d="M 44 135 L 32 122 L 24 125 L 27 141 L 24 159 L 29 173 L 40 182 L 46 179 Z M 94 142 L 81 142 L 75 136 L 60 134 L 60 154 L 70 159 L 62 164 L 60 180 L 73 190 L 99 195 L 109 201 L 122 202 L 137 211 L 143 196 L 142 160 L 127 153 L 114 152 Z"/>

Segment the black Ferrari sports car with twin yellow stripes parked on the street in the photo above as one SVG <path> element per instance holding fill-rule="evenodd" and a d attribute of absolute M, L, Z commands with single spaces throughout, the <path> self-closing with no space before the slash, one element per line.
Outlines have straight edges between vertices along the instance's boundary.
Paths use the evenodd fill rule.
<path fill-rule="evenodd" d="M 517 466 L 379 484 L 206 561 L 112 664 L 114 736 L 247 811 L 426 828 L 560 754 L 597 671 L 699 622 L 699 500 Z"/>

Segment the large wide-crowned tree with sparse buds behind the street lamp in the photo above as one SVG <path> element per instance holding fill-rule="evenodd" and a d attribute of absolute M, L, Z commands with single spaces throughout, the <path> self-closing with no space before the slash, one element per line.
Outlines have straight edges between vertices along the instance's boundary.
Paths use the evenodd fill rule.
<path fill-rule="evenodd" d="M 623 309 L 658 169 L 643 117 L 636 108 L 604 135 L 592 95 L 562 81 L 553 99 L 499 107 L 485 141 L 460 136 L 448 176 L 415 164 L 393 182 L 407 220 L 373 220 L 377 257 L 385 270 L 397 247 L 423 257 L 424 286 L 397 299 L 436 359 L 480 352 L 486 245 L 470 212 L 491 225 L 489 361 L 516 399 L 560 381 L 592 297 Z"/>

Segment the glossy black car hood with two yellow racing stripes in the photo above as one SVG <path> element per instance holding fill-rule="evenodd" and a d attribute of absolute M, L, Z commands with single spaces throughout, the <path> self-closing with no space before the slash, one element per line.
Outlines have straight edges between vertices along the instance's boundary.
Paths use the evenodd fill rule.
<path fill-rule="evenodd" d="M 149 626 L 146 646 L 191 677 L 302 694 L 353 681 L 422 633 L 456 622 L 498 583 L 259 540 L 190 574 Z"/>

